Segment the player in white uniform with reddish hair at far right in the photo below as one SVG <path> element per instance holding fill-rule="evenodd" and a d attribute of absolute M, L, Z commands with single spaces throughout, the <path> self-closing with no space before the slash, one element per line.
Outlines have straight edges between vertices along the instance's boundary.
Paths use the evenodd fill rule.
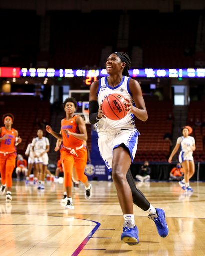
<path fill-rule="evenodd" d="M 189 126 L 184 126 L 181 128 L 182 137 L 179 137 L 176 141 L 176 145 L 168 159 L 168 162 L 171 163 L 173 156 L 178 151 L 181 145 L 181 151 L 179 154 L 179 162 L 184 169 L 184 179 L 179 181 L 179 185 L 186 192 L 192 192 L 193 189 L 189 185 L 189 180 L 195 173 L 195 164 L 193 160 L 193 151 L 196 150 L 195 139 L 194 137 L 189 136 L 192 133 L 192 128 Z"/>

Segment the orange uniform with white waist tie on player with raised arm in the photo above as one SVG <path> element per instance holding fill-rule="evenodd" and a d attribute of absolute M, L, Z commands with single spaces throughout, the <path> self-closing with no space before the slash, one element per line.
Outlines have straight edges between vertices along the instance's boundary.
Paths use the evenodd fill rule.
<path fill-rule="evenodd" d="M 77 139 L 72 135 L 65 134 L 63 130 L 68 129 L 73 133 L 80 133 L 79 127 L 76 124 L 76 118 L 79 115 L 73 116 L 72 119 L 62 121 L 61 133 L 63 145 L 60 149 L 62 155 L 62 162 L 65 172 L 65 186 L 72 186 L 72 168 L 75 166 L 78 179 L 85 183 L 87 176 L 84 174 L 86 167 L 87 150 L 83 145 L 83 140 Z"/>

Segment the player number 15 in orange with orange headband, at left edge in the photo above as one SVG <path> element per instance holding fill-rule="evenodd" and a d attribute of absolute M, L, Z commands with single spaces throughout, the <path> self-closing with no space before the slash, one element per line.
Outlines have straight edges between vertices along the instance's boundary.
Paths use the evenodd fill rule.
<path fill-rule="evenodd" d="M 16 146 L 22 142 L 18 137 L 18 131 L 12 128 L 14 116 L 12 114 L 3 115 L 4 127 L 0 128 L 0 174 L 1 187 L 0 195 L 5 193 L 7 186 L 6 202 L 11 202 L 12 173 L 15 168 Z"/>

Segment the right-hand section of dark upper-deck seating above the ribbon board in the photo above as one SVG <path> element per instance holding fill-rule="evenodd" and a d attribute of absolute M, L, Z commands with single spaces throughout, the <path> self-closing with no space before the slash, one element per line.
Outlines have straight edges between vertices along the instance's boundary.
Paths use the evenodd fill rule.
<path fill-rule="evenodd" d="M 199 12 L 140 10 L 128 11 L 128 14 L 130 48 L 140 46 L 143 49 L 144 68 L 194 67 Z"/>

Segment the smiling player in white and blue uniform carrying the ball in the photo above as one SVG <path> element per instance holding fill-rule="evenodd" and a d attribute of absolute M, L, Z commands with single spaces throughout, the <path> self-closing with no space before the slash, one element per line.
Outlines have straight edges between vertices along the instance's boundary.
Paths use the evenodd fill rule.
<path fill-rule="evenodd" d="M 142 121 L 148 118 L 140 85 L 129 77 L 130 65 L 131 61 L 126 53 L 115 52 L 108 57 L 106 71 L 109 76 L 93 82 L 90 87 L 89 119 L 90 123 L 97 123 L 99 151 L 107 168 L 112 172 L 124 214 L 121 240 L 129 245 L 135 245 L 139 239 L 134 221 L 133 202 L 154 220 L 161 237 L 168 235 L 168 226 L 164 211 L 155 209 L 136 188 L 129 169 L 136 153 L 139 135 L 134 125 L 134 115 Z M 128 114 L 119 121 L 106 118 L 102 111 L 103 99 L 113 93 L 119 93 L 128 100 Z"/>

